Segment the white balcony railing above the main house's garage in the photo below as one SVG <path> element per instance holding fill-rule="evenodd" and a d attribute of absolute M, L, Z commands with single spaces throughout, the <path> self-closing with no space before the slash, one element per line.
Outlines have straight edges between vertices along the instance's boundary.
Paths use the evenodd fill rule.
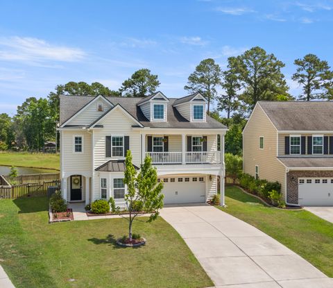
<path fill-rule="evenodd" d="M 146 152 L 153 164 L 221 163 L 220 151 L 202 152 Z M 183 157 L 185 158 L 183 162 Z"/>

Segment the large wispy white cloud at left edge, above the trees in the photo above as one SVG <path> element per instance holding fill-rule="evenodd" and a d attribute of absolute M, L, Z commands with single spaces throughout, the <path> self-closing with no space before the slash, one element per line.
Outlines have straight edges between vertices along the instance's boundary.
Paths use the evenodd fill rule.
<path fill-rule="evenodd" d="M 86 53 L 78 48 L 58 46 L 33 37 L 0 38 L 0 60 L 43 62 L 46 60 L 74 62 Z"/>

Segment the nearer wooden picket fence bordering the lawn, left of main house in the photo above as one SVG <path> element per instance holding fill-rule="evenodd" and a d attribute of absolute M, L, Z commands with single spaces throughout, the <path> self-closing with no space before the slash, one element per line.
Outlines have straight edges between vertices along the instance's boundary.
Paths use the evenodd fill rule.
<path fill-rule="evenodd" d="M 26 183 L 0 187 L 0 198 L 20 198 L 46 196 L 47 188 L 60 186 L 60 180 L 43 181 L 42 183 Z"/>

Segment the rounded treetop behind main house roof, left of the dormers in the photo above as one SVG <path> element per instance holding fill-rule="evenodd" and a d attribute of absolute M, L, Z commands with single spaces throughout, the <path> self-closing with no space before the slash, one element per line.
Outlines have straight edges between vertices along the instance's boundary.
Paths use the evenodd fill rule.
<path fill-rule="evenodd" d="M 123 81 L 119 92 L 123 96 L 144 97 L 153 94 L 160 86 L 158 76 L 151 74 L 149 69 L 139 69 L 130 78 Z"/>

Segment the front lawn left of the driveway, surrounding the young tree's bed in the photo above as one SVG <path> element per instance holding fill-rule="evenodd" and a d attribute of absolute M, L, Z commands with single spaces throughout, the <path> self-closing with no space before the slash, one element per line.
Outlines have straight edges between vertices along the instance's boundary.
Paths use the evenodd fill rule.
<path fill-rule="evenodd" d="M 146 246 L 119 248 L 126 219 L 48 223 L 45 197 L 0 200 L 0 263 L 15 287 L 210 287 L 178 233 L 159 217 L 134 231 Z M 71 281 L 71 279 L 75 279 Z"/>

